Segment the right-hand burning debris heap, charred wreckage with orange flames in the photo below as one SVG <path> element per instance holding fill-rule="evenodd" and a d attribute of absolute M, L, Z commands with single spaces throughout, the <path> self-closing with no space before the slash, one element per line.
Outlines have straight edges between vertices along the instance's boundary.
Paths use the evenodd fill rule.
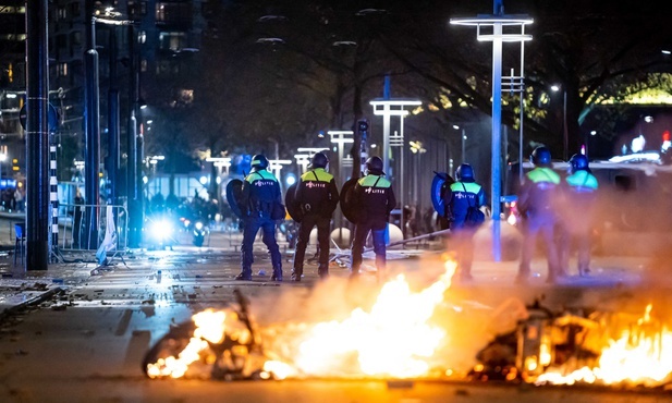
<path fill-rule="evenodd" d="M 554 314 L 536 302 L 516 330 L 479 352 L 479 380 L 535 384 L 660 387 L 672 377 L 672 333 L 651 317 L 591 312 Z"/>

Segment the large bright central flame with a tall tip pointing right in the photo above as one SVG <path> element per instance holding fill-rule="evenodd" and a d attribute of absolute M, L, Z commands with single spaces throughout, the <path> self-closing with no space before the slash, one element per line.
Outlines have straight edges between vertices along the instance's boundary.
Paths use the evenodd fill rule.
<path fill-rule="evenodd" d="M 445 269 L 419 292 L 411 290 L 403 274 L 398 276 L 383 284 L 368 312 L 355 308 L 343 320 L 295 326 L 290 340 L 298 347 L 290 358 L 292 366 L 306 376 L 426 376 L 447 337 L 430 320 L 451 285 L 455 262 L 447 261 Z"/>

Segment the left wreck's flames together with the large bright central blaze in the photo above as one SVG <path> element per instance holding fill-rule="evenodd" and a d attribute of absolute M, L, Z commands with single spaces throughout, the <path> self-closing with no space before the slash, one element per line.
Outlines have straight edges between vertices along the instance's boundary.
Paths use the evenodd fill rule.
<path fill-rule="evenodd" d="M 355 308 L 343 320 L 284 323 L 262 329 L 261 333 L 270 339 L 264 349 L 256 343 L 249 321 L 245 323 L 249 331 L 241 331 L 240 323 L 239 331 L 235 331 L 233 319 L 240 319 L 235 312 L 208 309 L 198 313 L 192 317 L 195 330 L 188 343 L 186 338 L 183 339 L 184 349 L 178 349 L 181 343 L 168 343 L 176 344 L 175 351 L 168 349 L 171 354 L 161 351 L 157 355 L 161 357 L 147 364 L 147 375 L 150 378 L 180 378 L 197 373 L 196 369 L 190 373 L 196 364 L 213 365 L 216 369 L 219 365 L 229 370 L 231 366 L 222 364 L 223 361 L 231 357 L 247 359 L 253 351 L 262 350 L 266 358 L 258 371 L 247 370 L 249 365 L 246 363 L 234 366 L 236 374 L 256 374 L 261 379 L 428 376 L 435 352 L 447 339 L 445 330 L 431 323 L 431 319 L 451 285 L 455 265 L 448 260 L 439 279 L 417 292 L 400 274 L 382 285 L 370 309 Z M 232 341 L 246 346 L 245 354 L 224 351 L 223 347 Z"/>

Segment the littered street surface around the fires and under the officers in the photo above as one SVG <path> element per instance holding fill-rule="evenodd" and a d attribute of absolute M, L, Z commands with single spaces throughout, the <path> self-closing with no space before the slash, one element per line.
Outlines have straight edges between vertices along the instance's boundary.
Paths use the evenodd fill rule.
<path fill-rule="evenodd" d="M 307 265 L 301 283 L 286 281 L 291 251 L 284 251 L 285 281 L 269 281 L 270 260 L 255 246 L 254 280 L 236 282 L 240 253 L 235 235 L 215 234 L 209 247 L 188 244 L 174 251 L 131 253 L 112 260 L 109 270 L 91 276 L 93 259 L 53 265 L 47 273 L 3 277 L 4 285 L 48 283 L 56 290 L 44 301 L 5 315 L 0 327 L 0 400 L 3 402 L 660 402 L 660 389 L 618 391 L 600 387 L 534 387 L 497 382 L 347 380 L 283 381 L 151 380 L 142 362 L 171 323 L 206 308 L 223 308 L 241 290 L 253 317 L 265 329 L 296 320 L 330 320 L 344 309 L 366 306 L 380 284 L 372 260 L 352 285 L 347 270 L 335 264 L 331 278 L 319 282 L 316 265 Z M 3 258 L 10 267 L 12 256 Z M 475 280 L 453 284 L 441 309 L 459 320 L 444 359 L 459 370 L 473 366 L 476 352 L 493 337 L 493 312 L 511 298 L 541 301 L 551 309 L 600 307 L 638 313 L 655 296 L 640 292 L 642 258 L 596 258 L 595 276 L 571 278 L 558 285 L 543 282 L 539 270 L 530 284 L 514 285 L 516 262 L 476 261 Z M 536 261 L 535 267 L 545 267 Z M 267 270 L 262 273 L 261 270 Z M 390 251 L 390 277 L 403 273 L 416 288 L 439 276 L 440 251 Z M 9 270 L 9 269 L 8 269 Z M 264 276 L 259 276 L 262 273 Z M 665 289 L 667 290 L 667 289 Z M 664 290 L 660 301 L 667 302 Z M 16 294 L 20 295 L 20 294 Z M 14 295 L 14 296 L 16 296 Z M 24 294 L 25 295 L 25 294 Z M 643 296 L 643 297 L 639 297 Z M 11 300 L 8 298 L 8 301 Z"/>

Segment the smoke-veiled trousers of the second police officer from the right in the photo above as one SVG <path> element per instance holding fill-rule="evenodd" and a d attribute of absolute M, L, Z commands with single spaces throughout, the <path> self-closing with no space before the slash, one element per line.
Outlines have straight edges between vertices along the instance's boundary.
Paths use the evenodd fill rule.
<path fill-rule="evenodd" d="M 535 255 L 538 235 L 541 235 L 543 246 L 546 247 L 549 278 L 552 279 L 560 274 L 560 262 L 554 240 L 557 225 L 555 220 L 546 217 L 529 218 L 523 221 L 523 248 L 521 251 L 518 276 L 529 274 L 529 265 Z"/>

